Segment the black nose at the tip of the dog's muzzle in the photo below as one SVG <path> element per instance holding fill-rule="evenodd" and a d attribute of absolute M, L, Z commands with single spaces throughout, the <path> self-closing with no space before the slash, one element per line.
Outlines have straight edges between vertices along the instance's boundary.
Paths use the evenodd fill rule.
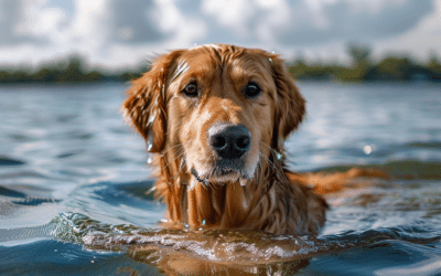
<path fill-rule="evenodd" d="M 208 142 L 225 159 L 245 155 L 251 145 L 251 134 L 243 125 L 217 123 L 208 129 Z"/>

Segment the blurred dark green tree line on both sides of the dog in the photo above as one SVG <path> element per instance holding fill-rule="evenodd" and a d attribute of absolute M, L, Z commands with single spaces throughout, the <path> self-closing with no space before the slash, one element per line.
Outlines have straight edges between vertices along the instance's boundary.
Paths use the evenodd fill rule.
<path fill-rule="evenodd" d="M 434 53 L 427 64 L 415 62 L 409 56 L 387 56 L 374 63 L 370 59 L 372 49 L 361 44 L 348 45 L 347 53 L 352 60 L 349 66 L 337 63 L 310 63 L 300 57 L 289 63 L 289 72 L 297 79 L 441 81 L 441 63 Z M 0 65 L 0 83 L 127 82 L 141 76 L 148 70 L 148 64 L 118 72 L 93 70 L 84 57 L 73 54 L 61 61 L 42 64 L 37 68 L 2 68 Z"/>

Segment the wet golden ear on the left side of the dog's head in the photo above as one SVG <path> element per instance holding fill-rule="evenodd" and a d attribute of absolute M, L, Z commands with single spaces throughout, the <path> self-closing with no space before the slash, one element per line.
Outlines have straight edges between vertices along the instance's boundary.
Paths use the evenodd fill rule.
<path fill-rule="evenodd" d="M 122 104 L 125 118 L 147 141 L 149 152 L 161 152 L 166 132 L 166 86 L 169 75 L 182 51 L 159 56 L 149 72 L 132 81 Z"/>

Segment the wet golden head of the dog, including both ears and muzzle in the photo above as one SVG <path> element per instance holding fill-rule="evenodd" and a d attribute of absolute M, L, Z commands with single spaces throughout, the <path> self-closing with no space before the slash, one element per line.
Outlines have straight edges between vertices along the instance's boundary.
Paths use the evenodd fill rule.
<path fill-rule="evenodd" d="M 225 183 L 251 179 L 260 158 L 283 151 L 304 99 L 278 55 L 214 44 L 159 56 L 122 110 L 148 151 L 185 160 L 200 182 Z"/>

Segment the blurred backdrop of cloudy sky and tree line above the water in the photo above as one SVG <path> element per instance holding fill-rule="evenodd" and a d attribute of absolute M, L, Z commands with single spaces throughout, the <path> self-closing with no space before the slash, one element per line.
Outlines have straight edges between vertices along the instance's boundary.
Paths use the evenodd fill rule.
<path fill-rule="evenodd" d="M 440 79 L 438 0 L 0 0 L 0 82 L 127 81 L 205 43 L 280 53 L 297 78 Z"/>

